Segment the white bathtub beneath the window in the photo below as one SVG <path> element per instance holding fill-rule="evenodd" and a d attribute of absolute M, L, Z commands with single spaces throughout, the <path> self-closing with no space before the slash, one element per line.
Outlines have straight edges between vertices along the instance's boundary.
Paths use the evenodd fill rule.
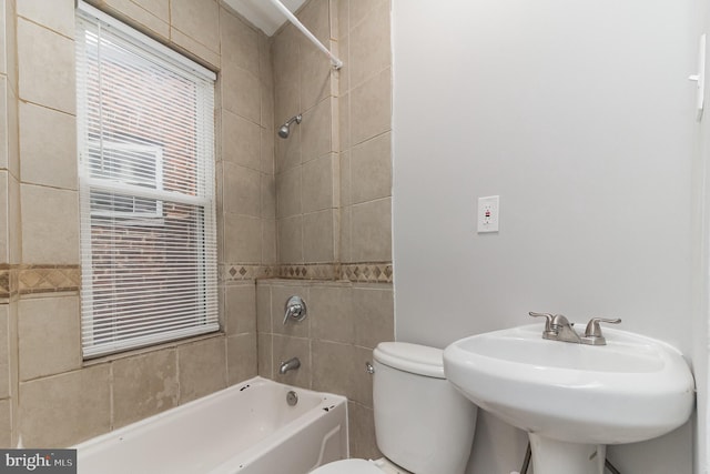
<path fill-rule="evenodd" d="M 347 400 L 254 377 L 74 447 L 79 474 L 305 474 L 347 457 Z"/>

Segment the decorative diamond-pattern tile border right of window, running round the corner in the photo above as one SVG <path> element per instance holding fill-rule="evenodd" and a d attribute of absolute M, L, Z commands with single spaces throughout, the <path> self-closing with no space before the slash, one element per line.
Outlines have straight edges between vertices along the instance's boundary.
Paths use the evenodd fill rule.
<path fill-rule="evenodd" d="M 392 262 L 294 263 L 283 265 L 221 264 L 220 281 L 261 279 L 347 280 L 357 283 L 392 283 Z"/>

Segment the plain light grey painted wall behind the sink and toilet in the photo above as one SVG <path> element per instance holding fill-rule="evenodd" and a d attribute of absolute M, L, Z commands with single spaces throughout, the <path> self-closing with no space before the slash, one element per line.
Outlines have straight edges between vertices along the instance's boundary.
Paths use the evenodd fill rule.
<path fill-rule="evenodd" d="M 699 4 L 393 1 L 398 340 L 443 347 L 544 311 L 619 316 L 691 357 Z M 491 194 L 500 232 L 477 234 Z M 519 468 L 519 434 L 484 420 L 469 472 Z M 689 473 L 690 446 L 687 425 L 610 457 Z"/>

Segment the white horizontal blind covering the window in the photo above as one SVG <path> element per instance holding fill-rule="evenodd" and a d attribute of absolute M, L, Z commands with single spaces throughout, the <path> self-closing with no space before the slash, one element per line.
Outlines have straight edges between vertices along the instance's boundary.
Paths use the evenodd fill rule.
<path fill-rule="evenodd" d="M 214 74 L 79 2 L 84 357 L 219 330 Z"/>

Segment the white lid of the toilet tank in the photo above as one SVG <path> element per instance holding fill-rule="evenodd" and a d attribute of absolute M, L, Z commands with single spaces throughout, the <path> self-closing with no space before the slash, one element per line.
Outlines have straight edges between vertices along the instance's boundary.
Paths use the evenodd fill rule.
<path fill-rule="evenodd" d="M 446 379 L 444 351 L 408 342 L 381 342 L 373 351 L 375 361 L 405 372 Z"/>

